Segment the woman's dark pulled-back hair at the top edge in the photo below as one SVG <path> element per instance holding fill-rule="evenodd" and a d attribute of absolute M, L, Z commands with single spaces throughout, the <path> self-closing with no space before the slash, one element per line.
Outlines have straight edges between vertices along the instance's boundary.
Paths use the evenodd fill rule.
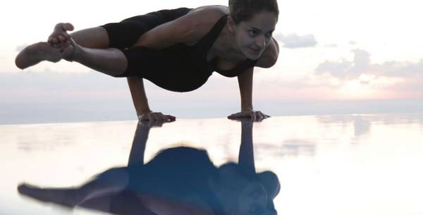
<path fill-rule="evenodd" d="M 279 16 L 276 0 L 229 0 L 229 11 L 235 24 L 250 20 L 256 13 L 269 11 Z"/>

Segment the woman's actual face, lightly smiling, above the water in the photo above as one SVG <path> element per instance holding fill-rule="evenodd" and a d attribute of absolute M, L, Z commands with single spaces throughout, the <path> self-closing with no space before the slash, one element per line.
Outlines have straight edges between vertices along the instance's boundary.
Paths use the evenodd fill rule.
<path fill-rule="evenodd" d="M 248 58 L 257 60 L 271 42 L 278 18 L 274 12 L 256 13 L 250 20 L 234 25 L 238 49 Z"/>

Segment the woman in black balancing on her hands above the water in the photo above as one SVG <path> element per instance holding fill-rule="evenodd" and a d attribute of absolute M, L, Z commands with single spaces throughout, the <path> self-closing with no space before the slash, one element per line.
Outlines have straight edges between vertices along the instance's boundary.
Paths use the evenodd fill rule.
<path fill-rule="evenodd" d="M 229 0 L 229 6 L 178 8 L 148 13 L 100 27 L 73 30 L 59 23 L 48 42 L 25 48 L 18 68 L 40 61 L 76 61 L 114 77 L 128 77 L 141 120 L 172 121 L 174 116 L 149 109 L 142 79 L 166 90 L 188 92 L 213 71 L 238 77 L 241 111 L 229 118 L 267 118 L 252 107 L 255 66 L 269 68 L 278 58 L 271 37 L 278 20 L 276 0 Z"/>

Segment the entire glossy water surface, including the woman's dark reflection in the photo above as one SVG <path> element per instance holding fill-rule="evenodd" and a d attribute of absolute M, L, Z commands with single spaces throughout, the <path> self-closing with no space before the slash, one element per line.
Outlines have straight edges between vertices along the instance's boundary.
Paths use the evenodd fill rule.
<path fill-rule="evenodd" d="M 0 134 L 0 214 L 228 214 L 234 205 L 271 214 L 271 203 L 278 214 L 423 214 L 423 114 L 0 125 Z M 142 170 L 165 149 L 172 162 Z M 278 195 L 264 171 L 277 176 Z M 216 173 L 226 180 L 209 180 Z M 37 187 L 23 195 L 20 183 Z"/>

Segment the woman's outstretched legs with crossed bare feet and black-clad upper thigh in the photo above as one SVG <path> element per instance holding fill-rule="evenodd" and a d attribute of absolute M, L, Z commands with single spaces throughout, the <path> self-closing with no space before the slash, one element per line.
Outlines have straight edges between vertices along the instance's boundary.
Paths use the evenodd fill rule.
<path fill-rule="evenodd" d="M 25 48 L 16 57 L 16 66 L 24 69 L 41 61 L 57 62 L 65 59 L 107 75 L 118 76 L 128 67 L 128 61 L 120 49 L 130 47 L 130 44 L 136 42 L 140 35 L 148 30 L 189 11 L 190 8 L 178 8 L 152 12 L 123 20 L 121 23 L 80 30 L 71 35 L 66 31 L 73 30 L 73 26 L 69 23 L 59 23 L 54 27 L 52 34 L 56 35 L 57 41 L 49 38 L 49 42 L 39 42 Z M 63 38 L 60 35 L 63 35 Z"/>

